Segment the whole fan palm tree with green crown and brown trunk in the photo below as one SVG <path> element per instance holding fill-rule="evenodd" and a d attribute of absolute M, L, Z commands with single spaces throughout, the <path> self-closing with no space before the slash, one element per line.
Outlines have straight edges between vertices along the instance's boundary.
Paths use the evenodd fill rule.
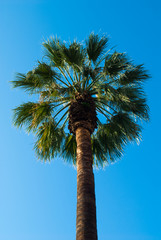
<path fill-rule="evenodd" d="M 13 119 L 36 135 L 38 157 L 59 154 L 77 167 L 77 240 L 97 239 L 93 166 L 119 158 L 148 119 L 147 72 L 107 45 L 94 33 L 83 43 L 51 38 L 43 43 L 45 60 L 12 81 L 36 96 L 15 108 Z"/>

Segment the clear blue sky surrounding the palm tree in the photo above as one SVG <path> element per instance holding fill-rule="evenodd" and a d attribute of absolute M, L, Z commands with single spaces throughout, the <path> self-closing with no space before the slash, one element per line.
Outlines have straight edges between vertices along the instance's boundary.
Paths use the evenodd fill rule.
<path fill-rule="evenodd" d="M 81 41 L 91 31 L 152 75 L 141 144 L 95 171 L 99 240 L 161 239 L 160 11 L 159 0 L 0 0 L 0 240 L 75 239 L 76 170 L 36 159 L 33 136 L 11 123 L 11 109 L 29 97 L 9 81 L 41 59 L 44 39 Z"/>

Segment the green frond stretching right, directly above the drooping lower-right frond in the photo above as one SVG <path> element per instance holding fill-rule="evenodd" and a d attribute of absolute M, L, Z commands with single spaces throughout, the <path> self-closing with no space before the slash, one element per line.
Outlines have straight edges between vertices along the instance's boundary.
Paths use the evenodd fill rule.
<path fill-rule="evenodd" d="M 97 91 L 98 96 L 95 101 L 108 106 L 111 113 L 131 112 L 140 119 L 149 119 L 149 108 L 142 86 L 124 85 L 114 88 L 108 83 L 101 83 L 97 87 Z"/>

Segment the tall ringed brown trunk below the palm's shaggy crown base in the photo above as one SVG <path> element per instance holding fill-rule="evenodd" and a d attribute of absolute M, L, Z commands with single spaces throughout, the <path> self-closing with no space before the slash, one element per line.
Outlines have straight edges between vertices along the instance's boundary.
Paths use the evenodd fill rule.
<path fill-rule="evenodd" d="M 77 142 L 76 240 L 97 240 L 96 203 L 90 132 L 79 127 Z"/>

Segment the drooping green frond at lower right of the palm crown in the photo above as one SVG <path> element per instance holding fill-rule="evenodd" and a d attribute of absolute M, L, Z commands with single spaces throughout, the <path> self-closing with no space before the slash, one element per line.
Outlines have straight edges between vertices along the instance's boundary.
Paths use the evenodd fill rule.
<path fill-rule="evenodd" d="M 126 113 L 113 116 L 108 124 L 102 124 L 97 131 L 97 139 L 111 161 L 120 158 L 129 141 L 141 139 L 141 128 Z"/>

